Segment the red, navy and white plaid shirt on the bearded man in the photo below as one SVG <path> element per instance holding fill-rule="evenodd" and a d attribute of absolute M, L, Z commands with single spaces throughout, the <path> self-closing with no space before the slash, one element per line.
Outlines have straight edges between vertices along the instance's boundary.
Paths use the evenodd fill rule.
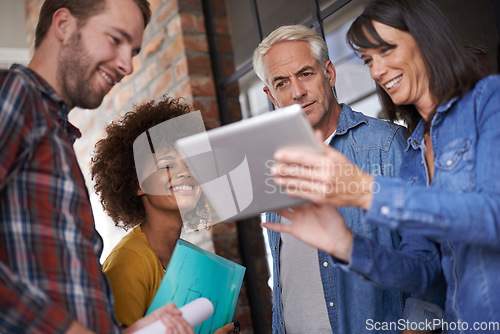
<path fill-rule="evenodd" d="M 0 71 L 0 333 L 120 331 L 68 112 L 33 71 Z"/>

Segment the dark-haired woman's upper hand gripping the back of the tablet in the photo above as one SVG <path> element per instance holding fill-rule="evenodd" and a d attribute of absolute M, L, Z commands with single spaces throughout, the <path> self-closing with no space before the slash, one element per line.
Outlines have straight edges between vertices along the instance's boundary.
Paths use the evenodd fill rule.
<path fill-rule="evenodd" d="M 356 206 L 369 209 L 374 187 L 373 176 L 364 173 L 342 153 L 325 145 L 322 153 L 294 148 L 278 150 L 271 168 L 274 182 L 290 196 L 335 207 Z"/>

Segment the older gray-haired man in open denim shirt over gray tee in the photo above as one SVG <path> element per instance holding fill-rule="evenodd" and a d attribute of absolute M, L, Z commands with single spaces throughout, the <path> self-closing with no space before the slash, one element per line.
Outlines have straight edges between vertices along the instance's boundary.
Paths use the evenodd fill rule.
<path fill-rule="evenodd" d="M 398 175 L 406 147 L 405 129 L 337 101 L 335 67 L 325 41 L 316 32 L 300 25 L 279 27 L 259 44 L 253 66 L 276 107 L 301 105 L 327 145 L 364 171 Z M 435 245 L 423 238 L 416 240 L 367 224 L 360 209 L 340 208 L 339 212 L 362 240 L 371 239 L 391 249 L 417 244 L 422 254 L 437 253 Z M 266 213 L 266 221 L 287 223 L 274 212 Z M 396 324 L 412 316 L 404 314 L 405 303 L 418 304 L 416 299 L 349 273 L 348 266 L 291 235 L 268 232 L 273 257 L 273 333 L 365 333 L 371 322 Z M 426 259 L 413 256 L 405 261 L 425 270 Z"/>

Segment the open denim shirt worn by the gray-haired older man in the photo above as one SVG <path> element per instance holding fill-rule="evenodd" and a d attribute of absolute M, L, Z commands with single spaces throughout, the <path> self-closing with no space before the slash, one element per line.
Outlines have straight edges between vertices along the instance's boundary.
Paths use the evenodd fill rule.
<path fill-rule="evenodd" d="M 406 147 L 404 129 L 354 112 L 345 104 L 341 106 L 338 128 L 330 145 L 364 171 L 374 175 L 398 175 Z M 366 223 L 362 219 L 362 210 L 340 208 L 339 211 L 349 228 L 363 238 L 391 248 L 399 247 L 398 233 Z M 280 216 L 267 213 L 266 220 L 279 222 Z M 268 235 L 273 257 L 273 333 L 285 333 L 279 285 L 280 234 L 268 231 Z M 403 317 L 405 296 L 401 292 L 376 287 L 359 275 L 347 273 L 336 266 L 332 257 L 323 251 L 318 251 L 318 260 L 333 333 L 365 333 L 366 322 L 370 319 L 377 322 L 396 322 Z"/>

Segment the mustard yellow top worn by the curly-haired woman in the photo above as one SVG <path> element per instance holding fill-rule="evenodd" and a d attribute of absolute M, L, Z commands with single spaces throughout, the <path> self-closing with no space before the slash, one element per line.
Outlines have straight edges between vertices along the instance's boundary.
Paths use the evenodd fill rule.
<path fill-rule="evenodd" d="M 146 314 L 165 274 L 140 225 L 113 248 L 103 271 L 113 291 L 116 317 L 127 327 Z"/>

